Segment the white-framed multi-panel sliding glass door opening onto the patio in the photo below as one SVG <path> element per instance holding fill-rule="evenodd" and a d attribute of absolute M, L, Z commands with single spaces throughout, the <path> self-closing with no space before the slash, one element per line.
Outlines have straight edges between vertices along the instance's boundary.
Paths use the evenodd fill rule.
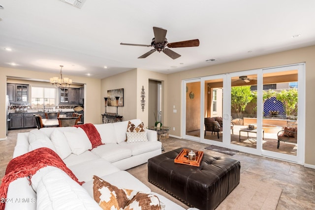
<path fill-rule="evenodd" d="M 184 81 L 183 137 L 302 163 L 304 81 L 304 64 Z"/>

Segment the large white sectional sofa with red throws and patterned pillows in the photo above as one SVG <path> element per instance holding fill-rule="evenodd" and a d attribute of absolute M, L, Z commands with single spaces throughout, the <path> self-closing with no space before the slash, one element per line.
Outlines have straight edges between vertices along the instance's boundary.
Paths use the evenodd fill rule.
<path fill-rule="evenodd" d="M 130 121 L 135 125 L 141 123 L 138 119 Z M 46 166 L 32 176 L 31 185 L 28 178 L 19 178 L 9 184 L 5 210 L 100 209 L 93 198 L 94 175 L 120 188 L 153 193 L 165 204 L 166 210 L 184 210 L 151 192 L 148 186 L 125 171 L 161 153 L 156 131 L 146 130 L 146 142 L 127 143 L 127 123 L 95 124 L 104 145 L 93 150 L 90 150 L 89 139 L 81 128 L 41 128 L 19 133 L 13 157 L 41 147 L 50 148 L 56 151 L 78 180 L 85 183 L 81 186 L 61 169 Z M 23 202 L 16 202 L 21 198 Z"/>

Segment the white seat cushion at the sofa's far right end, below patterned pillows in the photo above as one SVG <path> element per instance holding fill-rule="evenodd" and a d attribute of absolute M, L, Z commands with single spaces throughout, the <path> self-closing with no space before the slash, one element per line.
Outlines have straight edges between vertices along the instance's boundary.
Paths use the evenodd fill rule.
<path fill-rule="evenodd" d="M 127 148 L 132 151 L 132 155 L 138 155 L 149 151 L 160 150 L 161 149 L 161 142 L 135 142 L 135 143 L 126 143 L 121 142 L 119 143 L 120 146 Z"/>

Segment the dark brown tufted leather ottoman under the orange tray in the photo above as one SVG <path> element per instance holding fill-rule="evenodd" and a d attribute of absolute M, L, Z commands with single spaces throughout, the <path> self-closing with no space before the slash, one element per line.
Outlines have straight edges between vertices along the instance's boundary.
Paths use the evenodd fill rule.
<path fill-rule="evenodd" d="M 206 154 L 199 167 L 174 163 L 174 158 L 182 150 L 179 148 L 150 158 L 148 180 L 191 207 L 215 209 L 239 184 L 241 163 Z"/>

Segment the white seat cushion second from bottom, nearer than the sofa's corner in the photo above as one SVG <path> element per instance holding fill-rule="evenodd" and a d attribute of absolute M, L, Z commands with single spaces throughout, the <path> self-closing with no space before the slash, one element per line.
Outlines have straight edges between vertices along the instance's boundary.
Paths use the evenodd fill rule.
<path fill-rule="evenodd" d="M 80 181 L 90 181 L 92 180 L 93 175 L 102 177 L 120 171 L 119 168 L 113 166 L 103 158 L 88 160 L 83 163 L 72 165 L 69 166 L 69 169 Z"/>

